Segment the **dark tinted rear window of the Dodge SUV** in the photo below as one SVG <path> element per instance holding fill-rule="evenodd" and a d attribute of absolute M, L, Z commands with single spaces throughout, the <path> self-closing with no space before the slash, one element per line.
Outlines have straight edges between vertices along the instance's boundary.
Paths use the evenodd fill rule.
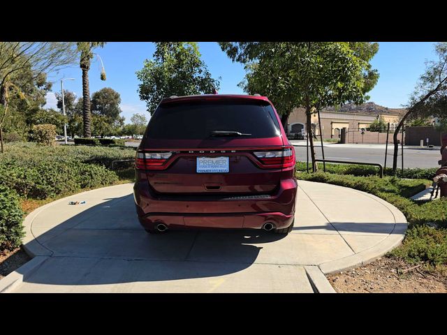
<path fill-rule="evenodd" d="M 272 106 L 256 102 L 200 101 L 164 105 L 149 122 L 147 138 L 203 140 L 214 138 L 212 131 L 238 131 L 249 138 L 280 134 Z"/>

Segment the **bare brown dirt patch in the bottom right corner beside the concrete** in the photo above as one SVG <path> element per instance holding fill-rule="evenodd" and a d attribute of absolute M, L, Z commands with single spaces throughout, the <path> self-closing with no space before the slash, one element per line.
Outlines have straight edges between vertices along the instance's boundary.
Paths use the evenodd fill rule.
<path fill-rule="evenodd" d="M 445 293 L 447 278 L 395 258 L 327 276 L 339 293 Z"/>

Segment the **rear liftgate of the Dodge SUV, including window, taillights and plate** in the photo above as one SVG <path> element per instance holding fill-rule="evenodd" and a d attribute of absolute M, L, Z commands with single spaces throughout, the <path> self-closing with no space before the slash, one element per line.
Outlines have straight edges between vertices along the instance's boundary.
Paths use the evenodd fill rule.
<path fill-rule="evenodd" d="M 155 193 L 268 194 L 279 186 L 284 159 L 293 155 L 295 163 L 268 101 L 176 100 L 157 107 L 137 153 Z M 288 158 L 277 156 L 284 152 Z"/>

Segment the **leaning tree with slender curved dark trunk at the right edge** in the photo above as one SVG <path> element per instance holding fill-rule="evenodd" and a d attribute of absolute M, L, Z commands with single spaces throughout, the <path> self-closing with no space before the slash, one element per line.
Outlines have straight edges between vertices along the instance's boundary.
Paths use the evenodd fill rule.
<path fill-rule="evenodd" d="M 428 117 L 446 116 L 446 96 L 447 96 L 447 42 L 437 43 L 434 51 L 438 59 L 429 61 L 416 84 L 416 88 L 411 94 L 409 103 L 406 105 L 406 113 L 397 125 L 393 134 L 393 171 L 397 170 L 397 155 L 399 154 L 399 134 L 405 121 Z"/>

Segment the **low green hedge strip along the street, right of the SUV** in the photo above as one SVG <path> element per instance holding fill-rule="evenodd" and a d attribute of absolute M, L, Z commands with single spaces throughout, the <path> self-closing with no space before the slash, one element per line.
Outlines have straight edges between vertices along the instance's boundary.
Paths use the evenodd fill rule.
<path fill-rule="evenodd" d="M 309 163 L 309 168 L 312 169 L 312 165 Z M 305 172 L 306 171 L 306 163 L 298 162 L 296 163 L 296 170 Z M 323 171 L 323 163 L 318 163 L 318 170 Z M 432 179 L 435 174 L 437 168 L 412 168 L 412 169 L 398 169 L 396 174 L 393 174 L 393 169 L 386 168 L 383 171 L 383 174 L 386 176 L 395 176 L 400 178 L 408 178 L 408 179 Z M 356 165 L 356 164 L 333 164 L 326 163 L 326 172 L 335 173 L 335 174 L 351 174 L 353 176 L 378 176 L 379 168 L 369 165 Z"/>

